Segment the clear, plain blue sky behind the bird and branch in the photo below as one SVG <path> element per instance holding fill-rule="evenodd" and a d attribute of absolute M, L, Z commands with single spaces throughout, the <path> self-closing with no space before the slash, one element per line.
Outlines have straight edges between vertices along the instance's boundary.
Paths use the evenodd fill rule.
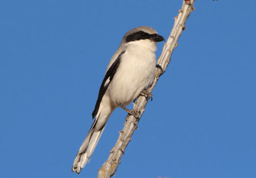
<path fill-rule="evenodd" d="M 133 27 L 168 38 L 181 4 L 1 1 L 1 177 L 97 177 L 120 108 L 90 163 L 80 175 L 71 168 L 109 59 Z M 115 177 L 256 177 L 254 4 L 195 2 Z"/>

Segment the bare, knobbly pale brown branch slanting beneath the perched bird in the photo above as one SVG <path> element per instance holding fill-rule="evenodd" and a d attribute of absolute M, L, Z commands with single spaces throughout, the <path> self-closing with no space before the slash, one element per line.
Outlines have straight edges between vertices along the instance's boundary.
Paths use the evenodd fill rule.
<path fill-rule="evenodd" d="M 154 89 L 157 80 L 164 73 L 168 64 L 170 63 L 170 57 L 172 56 L 172 52 L 175 47 L 178 46 L 177 41 L 180 37 L 180 34 L 182 34 L 182 31 L 186 29 L 185 22 L 188 19 L 190 13 L 195 10 L 195 8 L 193 7 L 195 0 L 182 1 L 182 8 L 181 10 L 179 10 L 179 15 L 174 18 L 175 22 L 170 36 L 166 43 L 164 43 L 162 54 L 157 60 L 157 66 L 159 67 L 156 70 L 156 77 L 154 83 L 148 89 L 148 92 L 150 93 Z M 143 96 L 140 96 L 136 103 L 134 103 L 133 108 L 136 110 L 140 110 L 140 117 L 145 111 L 145 106 L 147 105 L 148 99 L 149 97 L 145 97 L 145 94 L 143 94 Z M 120 135 L 118 137 L 115 147 L 113 147 L 113 149 L 111 149 L 110 151 L 108 160 L 99 169 L 98 178 L 109 178 L 115 174 L 118 164 L 121 163 L 120 159 L 125 152 L 125 148 L 131 141 L 132 134 L 134 133 L 136 128 L 138 128 L 137 124 L 138 121 L 140 121 L 140 117 L 136 119 L 133 115 L 127 115 L 127 117 L 125 118 L 126 121 L 124 124 L 124 129 L 119 132 Z"/>

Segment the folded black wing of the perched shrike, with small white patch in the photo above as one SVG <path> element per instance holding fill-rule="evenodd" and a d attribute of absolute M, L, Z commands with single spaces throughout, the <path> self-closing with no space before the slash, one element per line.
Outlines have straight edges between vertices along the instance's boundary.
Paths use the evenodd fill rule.
<path fill-rule="evenodd" d="M 100 91 L 99 91 L 99 96 L 98 96 L 98 99 L 97 99 L 97 102 L 96 102 L 96 105 L 95 105 L 95 108 L 92 112 L 92 118 L 94 118 L 96 115 L 97 115 L 97 112 L 99 111 L 99 107 L 100 107 L 100 102 L 102 100 L 102 97 L 104 96 L 104 94 L 106 93 L 107 89 L 108 89 L 108 86 L 110 84 L 110 82 L 112 81 L 115 73 L 116 73 L 116 70 L 120 64 L 120 61 L 121 61 L 121 56 L 122 54 L 124 54 L 125 51 L 121 52 L 119 54 L 119 56 L 117 57 L 116 61 L 111 65 L 111 67 L 108 69 L 104 79 L 103 79 L 103 82 L 102 84 L 100 85 Z M 108 83 L 107 80 L 109 79 Z"/>

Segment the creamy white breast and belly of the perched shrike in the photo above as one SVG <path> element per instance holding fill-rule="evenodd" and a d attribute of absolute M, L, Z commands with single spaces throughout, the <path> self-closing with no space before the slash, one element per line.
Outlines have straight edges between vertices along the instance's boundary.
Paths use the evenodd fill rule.
<path fill-rule="evenodd" d="M 153 50 L 150 49 L 152 48 L 144 45 L 127 46 L 107 91 L 109 98 L 116 105 L 117 103 L 129 105 L 143 89 L 147 89 L 154 81 L 156 47 Z"/>

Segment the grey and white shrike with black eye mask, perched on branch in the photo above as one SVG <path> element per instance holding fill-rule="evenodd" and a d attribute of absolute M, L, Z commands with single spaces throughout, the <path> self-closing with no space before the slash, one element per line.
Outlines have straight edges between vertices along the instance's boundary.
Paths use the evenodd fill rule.
<path fill-rule="evenodd" d="M 90 161 L 108 118 L 116 107 L 122 107 L 136 116 L 134 110 L 127 110 L 125 106 L 152 85 L 156 73 L 156 46 L 157 42 L 163 40 L 163 36 L 147 26 L 136 27 L 124 35 L 100 85 L 92 112 L 95 121 L 77 152 L 72 172 L 79 174 Z"/>

